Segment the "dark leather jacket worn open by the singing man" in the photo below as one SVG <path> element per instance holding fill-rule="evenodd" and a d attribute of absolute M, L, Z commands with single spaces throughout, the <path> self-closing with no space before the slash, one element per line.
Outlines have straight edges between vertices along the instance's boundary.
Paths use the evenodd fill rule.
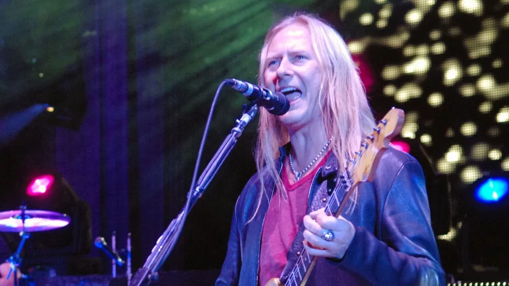
<path fill-rule="evenodd" d="M 288 150 L 280 148 L 279 171 Z M 276 165 L 277 166 L 277 165 Z M 309 190 L 307 213 L 324 207 L 327 181 L 319 177 L 337 172 L 329 156 Z M 274 182 L 263 171 L 266 189 Z M 269 199 L 257 207 L 259 174 L 247 182 L 237 200 L 227 256 L 216 285 L 265 285 L 259 279 L 260 240 Z M 355 236 L 341 260 L 319 258 L 306 285 L 444 285 L 437 244 L 431 229 L 430 209 L 422 168 L 410 155 L 390 148 L 380 160 L 373 182 L 358 187 L 353 211 L 342 214 L 355 226 Z M 302 245 L 300 245 L 302 246 Z M 302 248 L 302 247 L 300 247 Z M 293 246 L 287 255 L 296 257 Z M 286 271 L 287 269 L 285 269 Z M 284 271 L 284 274 L 285 274 Z M 281 275 L 283 276 L 283 275 Z"/>

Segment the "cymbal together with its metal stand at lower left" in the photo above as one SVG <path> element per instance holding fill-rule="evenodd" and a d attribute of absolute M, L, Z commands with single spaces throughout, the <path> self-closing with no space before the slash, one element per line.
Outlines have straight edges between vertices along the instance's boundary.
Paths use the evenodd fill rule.
<path fill-rule="evenodd" d="M 18 285 L 17 271 L 21 264 L 19 255 L 30 233 L 62 228 L 70 222 L 71 218 L 66 214 L 46 210 L 27 210 L 26 206 L 21 206 L 19 210 L 0 212 L 0 232 L 17 232 L 21 237 L 16 252 L 7 260 L 11 265 L 7 279 L 14 274 L 14 285 Z"/>

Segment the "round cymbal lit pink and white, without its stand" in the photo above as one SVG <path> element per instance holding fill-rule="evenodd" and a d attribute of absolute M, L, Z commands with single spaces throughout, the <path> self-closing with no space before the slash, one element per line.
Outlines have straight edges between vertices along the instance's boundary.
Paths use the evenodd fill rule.
<path fill-rule="evenodd" d="M 71 218 L 66 214 L 48 210 L 25 210 L 25 223 L 20 210 L 0 212 L 0 232 L 38 232 L 67 226 Z"/>

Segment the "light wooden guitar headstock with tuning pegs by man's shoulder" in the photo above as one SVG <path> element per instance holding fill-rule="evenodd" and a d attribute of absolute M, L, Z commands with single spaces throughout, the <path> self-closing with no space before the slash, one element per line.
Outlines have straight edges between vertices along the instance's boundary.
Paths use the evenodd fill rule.
<path fill-rule="evenodd" d="M 389 148 L 390 140 L 401 132 L 404 122 L 405 112 L 392 108 L 373 133 L 362 141 L 361 148 L 347 166 L 354 184 L 374 179 L 382 154 Z"/>

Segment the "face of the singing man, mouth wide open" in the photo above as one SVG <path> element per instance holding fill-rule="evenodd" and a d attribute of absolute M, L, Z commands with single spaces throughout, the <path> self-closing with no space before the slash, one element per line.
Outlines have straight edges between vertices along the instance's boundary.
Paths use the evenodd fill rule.
<path fill-rule="evenodd" d="M 272 39 L 263 74 L 265 87 L 285 94 L 290 110 L 279 116 L 289 131 L 320 120 L 320 69 L 306 25 L 291 24 Z"/>

